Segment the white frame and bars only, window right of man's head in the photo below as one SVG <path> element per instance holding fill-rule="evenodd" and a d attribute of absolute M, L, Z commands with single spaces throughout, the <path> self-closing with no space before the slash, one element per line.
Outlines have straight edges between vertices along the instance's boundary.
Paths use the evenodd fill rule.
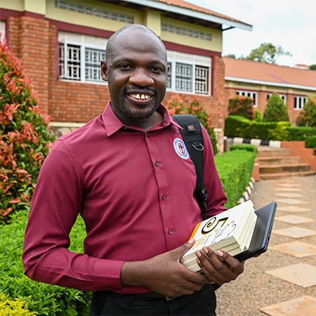
<path fill-rule="evenodd" d="M 168 65 L 170 65 L 170 70 L 169 70 L 168 84 L 167 84 L 166 91 L 199 95 L 199 96 L 211 96 L 211 58 L 210 57 L 180 53 L 178 51 L 167 51 L 167 54 L 168 54 Z M 180 65 L 183 65 L 183 67 L 180 67 Z M 187 66 L 187 69 L 189 69 L 189 67 L 191 67 L 192 69 L 191 84 L 188 81 L 185 82 L 187 78 L 186 79 L 183 78 L 183 84 L 184 85 L 186 84 L 187 86 L 190 85 L 191 86 L 190 90 L 188 88 L 179 88 L 179 85 L 177 84 L 178 78 L 177 78 L 176 70 L 177 69 L 179 70 L 179 68 L 182 70 L 185 70 L 185 66 Z M 202 67 L 206 68 L 206 72 L 208 72 L 208 74 L 206 74 L 207 77 L 204 77 L 204 78 L 202 76 L 200 77 L 201 85 L 197 86 L 198 79 L 199 79 L 198 78 L 199 69 L 202 70 L 202 73 L 203 73 Z M 187 74 L 182 74 L 182 76 L 187 77 Z M 178 77 L 180 77 L 180 74 L 178 74 Z M 206 82 L 203 83 L 203 79 L 205 79 Z"/>

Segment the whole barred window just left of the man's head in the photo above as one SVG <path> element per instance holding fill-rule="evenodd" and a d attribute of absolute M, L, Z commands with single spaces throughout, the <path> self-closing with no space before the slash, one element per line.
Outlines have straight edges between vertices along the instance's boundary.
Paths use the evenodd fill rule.
<path fill-rule="evenodd" d="M 58 34 L 58 72 L 60 79 L 103 82 L 100 61 L 105 58 L 107 39 L 80 34 Z"/>

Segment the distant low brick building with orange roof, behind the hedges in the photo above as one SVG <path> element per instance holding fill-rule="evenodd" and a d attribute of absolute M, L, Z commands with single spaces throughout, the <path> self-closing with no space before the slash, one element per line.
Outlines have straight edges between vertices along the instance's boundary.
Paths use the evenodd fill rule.
<path fill-rule="evenodd" d="M 291 123 L 296 124 L 308 95 L 316 94 L 316 71 L 308 67 L 285 67 L 223 58 L 225 63 L 226 107 L 233 96 L 250 96 L 254 106 L 263 114 L 268 98 L 276 92 L 284 100 L 289 110 Z M 306 69 L 307 68 L 307 69 Z"/>

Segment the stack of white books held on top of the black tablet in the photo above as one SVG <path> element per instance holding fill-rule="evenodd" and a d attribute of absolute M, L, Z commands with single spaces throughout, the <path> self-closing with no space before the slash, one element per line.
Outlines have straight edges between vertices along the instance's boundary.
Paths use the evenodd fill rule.
<path fill-rule="evenodd" d="M 214 252 L 223 250 L 231 256 L 248 250 L 256 220 L 251 200 L 204 220 L 192 232 L 190 239 L 194 237 L 195 244 L 180 258 L 180 263 L 192 271 L 200 272 L 195 251 L 202 251 L 204 246 Z"/>

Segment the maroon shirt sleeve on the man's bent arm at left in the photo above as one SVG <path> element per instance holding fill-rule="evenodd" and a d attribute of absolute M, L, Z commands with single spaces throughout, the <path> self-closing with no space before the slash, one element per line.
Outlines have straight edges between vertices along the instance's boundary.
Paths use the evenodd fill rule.
<path fill-rule="evenodd" d="M 25 274 L 39 282 L 84 291 L 119 289 L 124 261 L 68 250 L 70 230 L 81 210 L 81 170 L 62 140 L 56 140 L 39 174 L 25 231 Z"/>

